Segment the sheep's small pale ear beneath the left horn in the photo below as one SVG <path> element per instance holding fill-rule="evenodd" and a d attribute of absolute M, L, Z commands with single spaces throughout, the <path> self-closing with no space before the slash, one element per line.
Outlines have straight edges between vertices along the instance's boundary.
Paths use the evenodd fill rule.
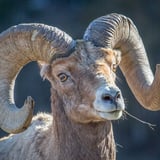
<path fill-rule="evenodd" d="M 40 67 L 40 76 L 45 80 L 49 75 L 51 66 L 42 61 L 38 61 L 38 65 Z"/>

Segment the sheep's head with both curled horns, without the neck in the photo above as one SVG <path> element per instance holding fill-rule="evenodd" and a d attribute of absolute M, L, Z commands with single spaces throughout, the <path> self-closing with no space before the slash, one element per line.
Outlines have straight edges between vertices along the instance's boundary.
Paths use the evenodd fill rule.
<path fill-rule="evenodd" d="M 78 41 L 55 27 L 21 24 L 0 35 L 0 126 L 9 133 L 23 131 L 32 119 L 32 98 L 21 109 L 13 98 L 15 77 L 30 61 L 39 61 L 42 77 L 51 82 L 66 114 L 75 121 L 120 118 L 124 101 L 115 84 L 118 65 L 137 100 L 145 108 L 160 108 L 160 66 L 153 80 L 130 19 L 118 14 L 100 17 Z"/>

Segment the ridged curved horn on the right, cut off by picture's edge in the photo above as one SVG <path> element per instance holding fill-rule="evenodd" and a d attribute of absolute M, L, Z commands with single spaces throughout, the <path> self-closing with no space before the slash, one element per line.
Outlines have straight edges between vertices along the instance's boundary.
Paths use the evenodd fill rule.
<path fill-rule="evenodd" d="M 129 18 L 119 14 L 97 18 L 88 26 L 84 40 L 120 50 L 120 68 L 137 100 L 147 109 L 160 109 L 160 65 L 153 77 L 141 37 Z"/>

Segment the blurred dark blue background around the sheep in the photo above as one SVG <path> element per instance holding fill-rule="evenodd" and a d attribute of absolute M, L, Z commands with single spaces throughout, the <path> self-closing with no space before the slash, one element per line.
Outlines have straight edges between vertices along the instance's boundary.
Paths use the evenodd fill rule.
<path fill-rule="evenodd" d="M 19 23 L 39 22 L 81 39 L 93 19 L 112 12 L 121 13 L 136 24 L 154 72 L 155 64 L 160 63 L 159 8 L 159 0 L 0 0 L 0 31 Z M 156 124 L 152 130 L 127 115 L 114 121 L 117 160 L 160 160 L 160 112 L 147 111 L 138 104 L 120 71 L 117 83 L 125 97 L 127 111 Z M 17 77 L 16 104 L 22 106 L 28 95 L 36 101 L 35 114 L 50 112 L 50 84 L 42 81 L 35 62 L 26 65 Z M 0 130 L 0 136 L 4 135 Z"/>

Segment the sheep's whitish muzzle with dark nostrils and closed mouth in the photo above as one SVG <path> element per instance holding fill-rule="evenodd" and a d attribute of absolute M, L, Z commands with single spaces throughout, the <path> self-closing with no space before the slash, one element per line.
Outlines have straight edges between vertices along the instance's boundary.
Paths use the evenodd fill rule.
<path fill-rule="evenodd" d="M 118 87 L 101 86 L 97 89 L 94 108 L 97 114 L 108 120 L 121 117 L 125 108 L 123 96 Z"/>

